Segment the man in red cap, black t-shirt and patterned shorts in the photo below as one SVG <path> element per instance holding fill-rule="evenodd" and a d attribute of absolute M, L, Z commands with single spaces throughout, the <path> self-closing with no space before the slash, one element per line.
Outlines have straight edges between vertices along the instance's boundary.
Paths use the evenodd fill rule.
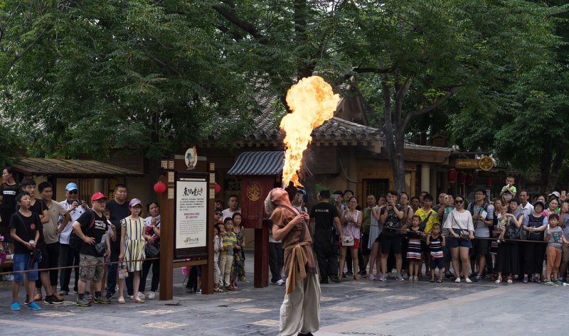
<path fill-rule="evenodd" d="M 110 241 L 107 231 L 107 218 L 102 214 L 105 210 L 107 196 L 97 192 L 91 197 L 91 210 L 85 212 L 73 223 L 73 232 L 83 240 L 79 251 L 79 283 L 77 305 L 89 307 L 91 303 L 85 298 L 85 286 L 92 281 L 95 285 L 94 303 L 109 304 L 110 300 L 101 294 L 101 280 L 104 272 L 104 257 L 110 254 Z M 105 237 L 105 239 L 103 239 Z M 95 245 L 107 244 L 105 254 L 99 254 Z"/>

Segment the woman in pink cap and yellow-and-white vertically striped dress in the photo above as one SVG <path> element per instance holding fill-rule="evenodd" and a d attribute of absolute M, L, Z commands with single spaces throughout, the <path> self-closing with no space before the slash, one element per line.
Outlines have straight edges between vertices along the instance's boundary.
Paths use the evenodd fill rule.
<path fill-rule="evenodd" d="M 132 278 L 132 288 L 134 288 L 134 296 L 132 300 L 135 303 L 144 303 L 142 298 L 138 297 L 138 289 L 140 284 L 140 271 L 142 271 L 142 259 L 144 259 L 144 244 L 148 236 L 146 234 L 146 224 L 140 217 L 142 212 L 142 202 L 138 198 L 133 198 L 129 202 L 130 216 L 124 218 L 120 223 L 122 230 L 120 234 L 120 255 L 119 261 L 127 264 L 129 273 L 134 273 Z M 124 303 L 122 291 L 124 290 L 124 279 L 119 281 L 119 303 Z"/>

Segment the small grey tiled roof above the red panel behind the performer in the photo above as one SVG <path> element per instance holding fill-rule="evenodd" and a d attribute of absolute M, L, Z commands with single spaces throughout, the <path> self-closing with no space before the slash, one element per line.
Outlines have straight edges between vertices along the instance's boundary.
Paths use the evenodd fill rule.
<path fill-rule="evenodd" d="M 277 175 L 285 166 L 283 151 L 255 151 L 241 153 L 228 171 L 230 175 Z"/>

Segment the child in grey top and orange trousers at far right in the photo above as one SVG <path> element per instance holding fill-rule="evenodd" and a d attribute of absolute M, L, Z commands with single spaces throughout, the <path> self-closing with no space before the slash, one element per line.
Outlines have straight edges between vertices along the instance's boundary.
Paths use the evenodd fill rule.
<path fill-rule="evenodd" d="M 559 264 L 561 264 L 561 246 L 567 244 L 567 239 L 563 234 L 563 229 L 558 227 L 559 215 L 549 215 L 549 228 L 546 230 L 546 235 L 543 241 L 547 243 L 547 262 L 546 262 L 546 285 L 553 285 L 553 283 L 561 284 L 557 278 Z M 563 244 L 562 244 L 563 243 Z M 551 281 L 551 274 L 553 273 L 553 281 Z"/>

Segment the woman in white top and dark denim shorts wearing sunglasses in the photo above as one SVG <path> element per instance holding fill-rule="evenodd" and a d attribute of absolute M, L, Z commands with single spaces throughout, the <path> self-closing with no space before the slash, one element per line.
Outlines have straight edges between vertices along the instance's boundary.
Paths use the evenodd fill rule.
<path fill-rule="evenodd" d="M 464 210 L 464 197 L 460 195 L 454 197 L 454 210 L 450 212 L 445 221 L 445 229 L 448 229 L 450 234 L 447 239 L 447 246 L 450 247 L 452 268 L 457 276 L 454 282 L 460 282 L 462 273 L 464 281 L 472 283 L 468 277 L 470 263 L 468 252 L 472 247 L 472 239 L 474 239 L 474 225 L 472 224 L 472 215 L 469 211 Z M 462 260 L 462 269 L 459 267 L 459 256 Z"/>

